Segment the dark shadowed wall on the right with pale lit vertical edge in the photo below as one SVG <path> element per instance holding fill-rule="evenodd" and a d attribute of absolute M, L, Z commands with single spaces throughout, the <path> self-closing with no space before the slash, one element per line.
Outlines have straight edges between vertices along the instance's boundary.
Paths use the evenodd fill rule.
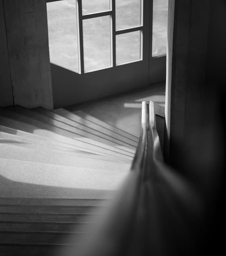
<path fill-rule="evenodd" d="M 203 189 L 216 186 L 224 164 L 225 17 L 222 0 L 169 8 L 165 157 Z"/>

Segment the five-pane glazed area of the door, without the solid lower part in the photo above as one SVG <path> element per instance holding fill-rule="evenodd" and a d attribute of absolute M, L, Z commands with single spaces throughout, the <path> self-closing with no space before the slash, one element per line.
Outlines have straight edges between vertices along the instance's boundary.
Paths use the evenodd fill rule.
<path fill-rule="evenodd" d="M 47 1 L 50 61 L 76 73 L 143 59 L 143 0 Z"/>

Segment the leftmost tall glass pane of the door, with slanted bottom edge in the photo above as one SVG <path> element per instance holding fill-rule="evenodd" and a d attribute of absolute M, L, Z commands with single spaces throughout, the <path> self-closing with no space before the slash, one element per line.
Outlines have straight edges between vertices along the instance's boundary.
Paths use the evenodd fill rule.
<path fill-rule="evenodd" d="M 79 73 L 79 50 L 75 0 L 48 2 L 50 62 Z"/>

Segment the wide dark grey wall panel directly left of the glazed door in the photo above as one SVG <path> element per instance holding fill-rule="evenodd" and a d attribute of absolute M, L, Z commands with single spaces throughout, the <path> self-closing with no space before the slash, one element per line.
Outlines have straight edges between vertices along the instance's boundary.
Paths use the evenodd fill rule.
<path fill-rule="evenodd" d="M 52 109 L 45 0 L 4 1 L 15 104 Z"/>

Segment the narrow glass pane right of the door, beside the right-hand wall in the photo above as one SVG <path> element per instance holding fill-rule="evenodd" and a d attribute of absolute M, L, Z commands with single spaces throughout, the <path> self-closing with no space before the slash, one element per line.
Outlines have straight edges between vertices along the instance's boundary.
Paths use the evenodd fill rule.
<path fill-rule="evenodd" d="M 168 0 L 153 0 L 152 56 L 166 54 Z"/>

